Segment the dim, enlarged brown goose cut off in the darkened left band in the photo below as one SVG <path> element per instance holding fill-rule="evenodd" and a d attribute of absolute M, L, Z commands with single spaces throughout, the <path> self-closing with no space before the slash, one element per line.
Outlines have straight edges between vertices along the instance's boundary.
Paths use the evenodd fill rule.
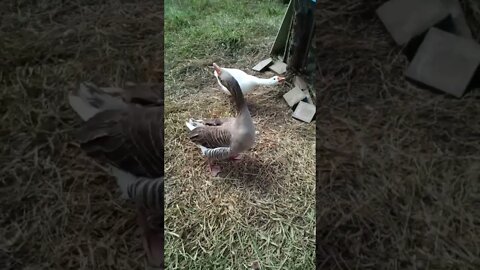
<path fill-rule="evenodd" d="M 85 121 L 77 132 L 81 148 L 110 164 L 123 196 L 138 207 L 148 267 L 163 269 L 163 89 L 83 83 L 69 101 Z"/>

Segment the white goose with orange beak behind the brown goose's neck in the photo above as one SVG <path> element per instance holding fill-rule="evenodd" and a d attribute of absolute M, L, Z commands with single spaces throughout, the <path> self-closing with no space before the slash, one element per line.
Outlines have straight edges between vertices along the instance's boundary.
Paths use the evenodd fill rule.
<path fill-rule="evenodd" d="M 252 91 L 253 89 L 255 89 L 260 85 L 274 86 L 285 81 L 285 77 L 273 76 L 268 79 L 263 79 L 263 78 L 258 78 L 258 77 L 249 75 L 240 69 L 221 68 L 215 63 L 213 63 L 213 68 L 215 69 L 213 71 L 213 75 L 217 79 L 220 89 L 222 89 L 222 91 L 227 93 L 228 95 L 230 95 L 230 91 L 228 91 L 228 89 L 221 83 L 219 79 L 219 74 L 221 73 L 221 70 L 228 71 L 228 73 L 230 73 L 230 75 L 232 75 L 235 78 L 235 80 L 237 80 L 238 84 L 240 85 L 240 89 L 242 89 L 243 94 L 247 94 L 248 92 Z"/>

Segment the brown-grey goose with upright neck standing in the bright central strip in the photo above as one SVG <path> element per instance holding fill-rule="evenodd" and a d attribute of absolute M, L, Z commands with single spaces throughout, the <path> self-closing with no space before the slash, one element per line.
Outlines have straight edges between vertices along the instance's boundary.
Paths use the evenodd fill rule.
<path fill-rule="evenodd" d="M 234 159 L 255 144 L 255 126 L 250 116 L 242 89 L 237 80 L 226 69 L 214 65 L 219 79 L 233 97 L 236 109 L 235 118 L 210 120 L 190 119 L 186 125 L 189 138 L 197 144 L 202 155 L 207 157 L 213 176 L 220 172 L 211 160 Z"/>

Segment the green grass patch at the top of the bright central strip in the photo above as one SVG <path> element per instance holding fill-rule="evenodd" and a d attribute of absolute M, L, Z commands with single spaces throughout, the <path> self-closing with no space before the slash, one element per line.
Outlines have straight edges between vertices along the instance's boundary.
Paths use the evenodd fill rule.
<path fill-rule="evenodd" d="M 166 1 L 167 83 L 188 77 L 185 65 L 196 60 L 245 66 L 266 56 L 285 10 L 278 1 Z M 181 91 L 179 86 L 167 89 Z"/>

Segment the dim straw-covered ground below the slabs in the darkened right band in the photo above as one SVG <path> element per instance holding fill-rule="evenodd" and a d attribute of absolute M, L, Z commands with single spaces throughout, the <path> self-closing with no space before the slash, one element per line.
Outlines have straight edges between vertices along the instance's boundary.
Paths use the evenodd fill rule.
<path fill-rule="evenodd" d="M 383 2 L 318 3 L 317 267 L 480 269 L 479 89 L 407 83 Z"/>

